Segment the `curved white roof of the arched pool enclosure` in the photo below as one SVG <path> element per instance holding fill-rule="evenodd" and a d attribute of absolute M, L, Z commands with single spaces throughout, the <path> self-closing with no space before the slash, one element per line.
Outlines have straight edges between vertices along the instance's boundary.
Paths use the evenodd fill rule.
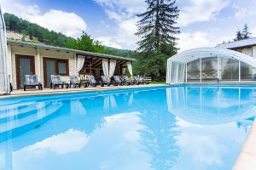
<path fill-rule="evenodd" d="M 246 54 L 241 54 L 234 50 L 223 48 L 193 48 L 183 51 L 182 53 L 173 55 L 171 58 L 168 59 L 168 61 L 175 61 L 178 63 L 186 64 L 195 59 L 207 57 L 224 57 L 237 59 L 246 63 L 247 65 L 252 65 L 256 67 L 256 59 L 253 59 L 253 57 Z"/>

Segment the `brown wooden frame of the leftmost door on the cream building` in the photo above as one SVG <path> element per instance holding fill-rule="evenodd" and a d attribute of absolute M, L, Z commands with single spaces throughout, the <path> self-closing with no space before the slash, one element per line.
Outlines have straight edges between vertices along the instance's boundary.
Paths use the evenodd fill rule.
<path fill-rule="evenodd" d="M 31 74 L 35 74 L 35 56 L 33 55 L 23 55 L 23 54 L 15 54 L 15 65 L 16 65 L 16 82 L 17 82 L 17 89 L 20 89 L 20 58 L 23 59 L 31 59 L 30 60 L 30 67 L 32 68 Z"/>

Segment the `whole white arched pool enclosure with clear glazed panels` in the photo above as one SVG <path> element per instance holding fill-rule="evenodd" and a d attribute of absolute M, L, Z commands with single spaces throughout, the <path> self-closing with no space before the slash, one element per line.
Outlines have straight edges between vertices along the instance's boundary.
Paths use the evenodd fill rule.
<path fill-rule="evenodd" d="M 194 48 L 167 60 L 167 84 L 255 80 L 256 59 L 230 49 Z"/>

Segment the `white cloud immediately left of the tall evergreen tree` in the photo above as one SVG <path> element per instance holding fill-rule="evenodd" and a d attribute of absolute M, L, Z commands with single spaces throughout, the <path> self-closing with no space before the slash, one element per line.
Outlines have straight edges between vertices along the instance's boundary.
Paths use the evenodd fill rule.
<path fill-rule="evenodd" d="M 109 19 L 117 24 L 116 34 L 107 37 L 97 37 L 103 44 L 115 48 L 136 49 L 139 38 L 137 32 L 137 16 L 146 10 L 146 3 L 138 0 L 95 0 L 102 5 Z"/>

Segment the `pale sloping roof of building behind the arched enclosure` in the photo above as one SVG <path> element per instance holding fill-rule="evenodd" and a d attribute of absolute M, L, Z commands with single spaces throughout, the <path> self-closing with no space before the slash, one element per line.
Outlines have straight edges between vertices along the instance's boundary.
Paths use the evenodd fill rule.
<path fill-rule="evenodd" d="M 234 49 L 234 48 L 250 47 L 253 45 L 256 45 L 256 37 L 235 41 L 235 42 L 221 43 L 221 44 L 218 44 L 216 48 Z"/>

